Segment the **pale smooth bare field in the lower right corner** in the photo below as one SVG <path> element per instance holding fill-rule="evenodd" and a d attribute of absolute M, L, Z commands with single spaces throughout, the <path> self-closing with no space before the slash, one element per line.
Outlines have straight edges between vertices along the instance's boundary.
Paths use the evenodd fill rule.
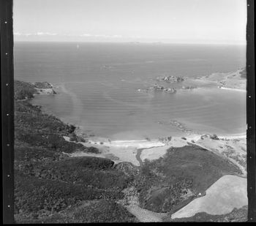
<path fill-rule="evenodd" d="M 212 215 L 228 214 L 233 208 L 241 208 L 248 204 L 246 189 L 246 178 L 222 176 L 206 190 L 205 196 L 192 200 L 187 206 L 172 214 L 171 218 L 190 217 L 200 212 Z"/>

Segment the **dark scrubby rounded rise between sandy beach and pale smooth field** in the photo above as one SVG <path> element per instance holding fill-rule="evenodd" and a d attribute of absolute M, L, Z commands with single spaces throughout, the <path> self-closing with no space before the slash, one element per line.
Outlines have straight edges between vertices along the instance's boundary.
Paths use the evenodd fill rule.
<path fill-rule="evenodd" d="M 164 157 L 146 161 L 138 179 L 140 206 L 169 212 L 186 200 L 204 194 L 226 174 L 241 173 L 238 167 L 197 146 L 170 148 Z"/>

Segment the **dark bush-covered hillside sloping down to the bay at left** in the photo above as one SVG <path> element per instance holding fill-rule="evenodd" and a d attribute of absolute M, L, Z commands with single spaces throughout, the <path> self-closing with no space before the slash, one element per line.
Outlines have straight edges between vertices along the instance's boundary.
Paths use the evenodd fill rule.
<path fill-rule="evenodd" d="M 116 203 L 132 177 L 109 159 L 65 154 L 92 148 L 64 140 L 78 140 L 73 125 L 19 101 L 34 93 L 30 83 L 15 81 L 15 222 L 134 222 Z"/>

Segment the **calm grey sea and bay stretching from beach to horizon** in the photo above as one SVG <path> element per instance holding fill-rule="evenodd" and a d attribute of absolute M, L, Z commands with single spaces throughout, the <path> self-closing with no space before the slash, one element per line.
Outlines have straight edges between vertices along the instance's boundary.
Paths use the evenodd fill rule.
<path fill-rule="evenodd" d="M 136 91 L 157 76 L 236 71 L 246 65 L 243 46 L 16 42 L 14 50 L 15 79 L 59 87 L 32 103 L 86 132 L 121 140 L 181 135 L 170 120 L 196 132 L 246 132 L 245 92 Z"/>

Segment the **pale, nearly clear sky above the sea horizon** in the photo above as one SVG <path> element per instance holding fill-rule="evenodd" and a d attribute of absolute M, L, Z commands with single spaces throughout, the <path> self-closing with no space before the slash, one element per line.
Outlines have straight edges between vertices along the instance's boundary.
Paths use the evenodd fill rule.
<path fill-rule="evenodd" d="M 245 44 L 246 0 L 13 0 L 15 41 Z"/>

